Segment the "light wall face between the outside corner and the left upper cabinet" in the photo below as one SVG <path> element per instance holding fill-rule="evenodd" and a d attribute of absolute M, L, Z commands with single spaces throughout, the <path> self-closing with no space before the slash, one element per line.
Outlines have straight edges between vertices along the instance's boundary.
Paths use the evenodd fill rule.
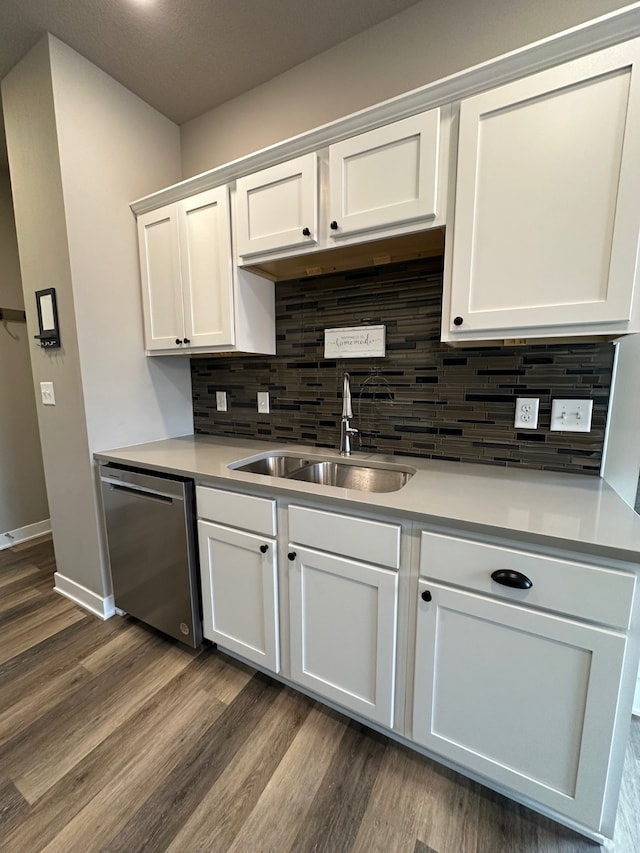
<path fill-rule="evenodd" d="M 179 130 L 54 38 L 51 67 L 89 449 L 191 432 L 188 359 L 144 355 L 129 208 L 179 179 Z"/>

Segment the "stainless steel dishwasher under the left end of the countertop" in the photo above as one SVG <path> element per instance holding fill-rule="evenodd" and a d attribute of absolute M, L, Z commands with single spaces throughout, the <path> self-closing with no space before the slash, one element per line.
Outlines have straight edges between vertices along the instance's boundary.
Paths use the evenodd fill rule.
<path fill-rule="evenodd" d="M 116 608 L 196 648 L 193 480 L 103 463 L 100 483 Z"/>

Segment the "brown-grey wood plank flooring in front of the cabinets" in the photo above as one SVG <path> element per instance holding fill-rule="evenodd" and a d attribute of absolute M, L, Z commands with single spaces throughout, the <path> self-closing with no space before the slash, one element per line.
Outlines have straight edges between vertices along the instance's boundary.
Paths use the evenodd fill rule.
<path fill-rule="evenodd" d="M 592 853 L 598 846 L 208 648 L 0 552 L 0 851 Z M 640 720 L 614 842 L 640 851 Z"/>

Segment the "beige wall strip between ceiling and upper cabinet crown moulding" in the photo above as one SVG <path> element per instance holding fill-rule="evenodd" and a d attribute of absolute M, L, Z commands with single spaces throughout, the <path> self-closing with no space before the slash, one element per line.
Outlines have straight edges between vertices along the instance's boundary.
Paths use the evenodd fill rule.
<path fill-rule="evenodd" d="M 628 5 L 422 0 L 182 126 L 188 178 Z"/>

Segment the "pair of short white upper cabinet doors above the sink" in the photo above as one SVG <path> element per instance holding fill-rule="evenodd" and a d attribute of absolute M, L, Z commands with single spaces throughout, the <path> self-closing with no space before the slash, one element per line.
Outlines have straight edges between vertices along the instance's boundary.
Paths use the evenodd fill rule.
<path fill-rule="evenodd" d="M 450 115 L 430 110 L 239 178 L 239 262 L 444 224 Z"/>

